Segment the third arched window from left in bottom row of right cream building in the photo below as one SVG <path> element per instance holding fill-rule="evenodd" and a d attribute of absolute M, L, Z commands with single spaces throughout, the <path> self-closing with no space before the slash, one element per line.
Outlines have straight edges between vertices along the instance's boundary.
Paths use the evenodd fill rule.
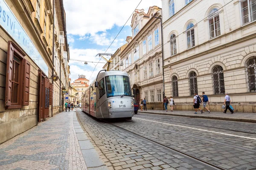
<path fill-rule="evenodd" d="M 224 74 L 223 68 L 220 65 L 215 65 L 212 70 L 213 79 L 213 92 L 214 94 L 224 94 L 225 84 L 224 84 Z"/>

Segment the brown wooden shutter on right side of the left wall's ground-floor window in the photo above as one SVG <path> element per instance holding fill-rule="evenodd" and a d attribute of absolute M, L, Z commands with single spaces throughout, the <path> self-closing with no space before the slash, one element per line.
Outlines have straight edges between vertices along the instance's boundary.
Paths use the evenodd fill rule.
<path fill-rule="evenodd" d="M 24 62 L 24 74 L 23 74 L 23 98 L 22 105 L 29 105 L 29 85 L 30 85 L 30 62 L 25 59 Z"/>

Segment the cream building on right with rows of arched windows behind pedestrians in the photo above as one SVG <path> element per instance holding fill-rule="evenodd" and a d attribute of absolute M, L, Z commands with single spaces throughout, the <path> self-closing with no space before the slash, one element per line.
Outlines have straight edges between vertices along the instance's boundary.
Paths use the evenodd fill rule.
<path fill-rule="evenodd" d="M 204 91 L 211 111 L 228 92 L 235 112 L 256 113 L 255 0 L 162 0 L 166 95 L 192 110 Z"/>

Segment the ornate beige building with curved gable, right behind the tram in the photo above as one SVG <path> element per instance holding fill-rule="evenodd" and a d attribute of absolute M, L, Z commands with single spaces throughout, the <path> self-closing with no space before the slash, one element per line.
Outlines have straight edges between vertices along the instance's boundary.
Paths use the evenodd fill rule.
<path fill-rule="evenodd" d="M 150 109 L 163 108 L 163 77 L 160 20 L 161 8 L 152 6 L 145 13 L 136 10 L 131 21 L 132 37 L 121 52 L 122 71 L 130 77 L 131 88 L 136 89 L 135 99 L 146 98 Z"/>

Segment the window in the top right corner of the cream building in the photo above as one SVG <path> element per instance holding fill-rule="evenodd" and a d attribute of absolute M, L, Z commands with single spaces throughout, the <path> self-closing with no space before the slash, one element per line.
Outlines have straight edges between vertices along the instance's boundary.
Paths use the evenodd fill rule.
<path fill-rule="evenodd" d="M 242 24 L 256 20 L 256 0 L 241 0 Z"/>

